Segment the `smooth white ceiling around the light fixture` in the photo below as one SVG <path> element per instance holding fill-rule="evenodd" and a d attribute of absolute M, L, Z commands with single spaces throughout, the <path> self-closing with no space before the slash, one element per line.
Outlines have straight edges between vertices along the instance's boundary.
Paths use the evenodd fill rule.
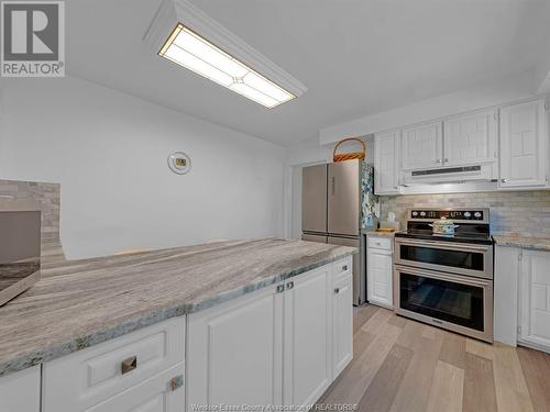
<path fill-rule="evenodd" d="M 548 0 L 193 0 L 308 87 L 267 110 L 145 47 L 160 1 L 67 1 L 68 74 L 283 145 L 529 69 L 550 29 Z"/>

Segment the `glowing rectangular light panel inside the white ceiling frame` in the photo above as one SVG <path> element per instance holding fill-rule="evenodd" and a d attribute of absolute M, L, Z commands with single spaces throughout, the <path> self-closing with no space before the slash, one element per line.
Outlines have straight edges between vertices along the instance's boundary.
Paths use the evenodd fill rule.
<path fill-rule="evenodd" d="M 183 24 L 158 55 L 270 109 L 296 98 Z"/>

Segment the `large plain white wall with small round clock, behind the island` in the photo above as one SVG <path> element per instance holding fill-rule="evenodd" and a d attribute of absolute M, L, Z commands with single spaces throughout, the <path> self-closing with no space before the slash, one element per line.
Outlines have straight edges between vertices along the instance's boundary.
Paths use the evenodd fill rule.
<path fill-rule="evenodd" d="M 62 185 L 68 258 L 282 235 L 283 147 L 75 78 L 1 81 L 0 178 Z"/>

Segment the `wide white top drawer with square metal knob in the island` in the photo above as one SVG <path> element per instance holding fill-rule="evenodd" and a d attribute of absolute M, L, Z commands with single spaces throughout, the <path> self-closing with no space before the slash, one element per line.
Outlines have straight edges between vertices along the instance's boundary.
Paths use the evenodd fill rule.
<path fill-rule="evenodd" d="M 44 365 L 44 412 L 77 412 L 184 361 L 185 318 L 175 318 Z"/>

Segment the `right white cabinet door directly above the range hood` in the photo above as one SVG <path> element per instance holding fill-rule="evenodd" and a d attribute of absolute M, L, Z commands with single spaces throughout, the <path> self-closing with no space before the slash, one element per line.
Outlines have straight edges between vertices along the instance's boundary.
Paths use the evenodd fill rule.
<path fill-rule="evenodd" d="M 498 114 L 482 111 L 446 120 L 444 166 L 466 166 L 497 160 Z"/>

